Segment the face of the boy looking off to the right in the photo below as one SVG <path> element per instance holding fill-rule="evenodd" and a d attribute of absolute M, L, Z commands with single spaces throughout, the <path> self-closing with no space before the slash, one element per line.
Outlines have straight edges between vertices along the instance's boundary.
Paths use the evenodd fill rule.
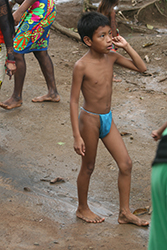
<path fill-rule="evenodd" d="M 100 26 L 90 39 L 89 47 L 98 53 L 107 54 L 112 48 L 112 32 L 110 26 Z"/>

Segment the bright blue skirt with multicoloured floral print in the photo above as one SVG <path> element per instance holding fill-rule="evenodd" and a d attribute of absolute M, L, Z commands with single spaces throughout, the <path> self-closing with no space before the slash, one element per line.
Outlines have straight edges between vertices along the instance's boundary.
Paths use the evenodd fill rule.
<path fill-rule="evenodd" d="M 47 50 L 50 26 L 56 17 L 54 0 L 38 0 L 23 14 L 14 38 L 14 51 Z"/>

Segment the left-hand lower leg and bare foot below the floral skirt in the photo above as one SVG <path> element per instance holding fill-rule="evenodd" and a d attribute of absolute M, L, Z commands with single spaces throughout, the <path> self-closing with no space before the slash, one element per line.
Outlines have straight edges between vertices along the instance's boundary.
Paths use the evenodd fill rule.
<path fill-rule="evenodd" d="M 22 90 L 26 74 L 24 54 L 15 53 L 15 60 L 17 68 L 14 75 L 14 91 L 9 99 L 0 102 L 0 106 L 4 109 L 12 109 L 22 105 Z"/>

